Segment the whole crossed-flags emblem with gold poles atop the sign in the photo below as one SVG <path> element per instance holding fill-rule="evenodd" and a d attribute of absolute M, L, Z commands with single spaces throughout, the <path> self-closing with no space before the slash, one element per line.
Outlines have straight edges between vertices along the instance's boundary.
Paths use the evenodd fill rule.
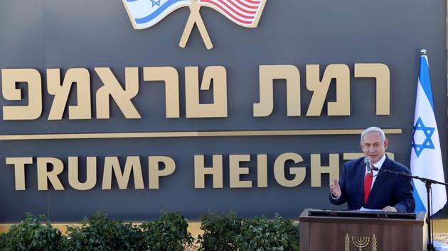
<path fill-rule="evenodd" d="M 208 36 L 206 26 L 203 23 L 199 9 L 207 6 L 239 26 L 246 28 L 256 28 L 260 20 L 263 8 L 267 0 L 122 0 L 126 8 L 132 26 L 136 30 L 149 28 L 159 23 L 169 13 L 181 7 L 190 8 L 190 16 L 183 30 L 181 48 L 186 47 L 188 38 L 191 35 L 193 26 L 196 24 L 199 33 L 210 50 L 213 44 Z"/>

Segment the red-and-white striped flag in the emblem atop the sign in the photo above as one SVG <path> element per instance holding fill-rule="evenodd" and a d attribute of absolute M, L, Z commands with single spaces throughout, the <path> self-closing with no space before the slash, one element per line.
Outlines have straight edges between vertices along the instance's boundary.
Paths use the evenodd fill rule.
<path fill-rule="evenodd" d="M 201 6 L 215 9 L 225 17 L 247 28 L 255 28 L 266 0 L 199 0 Z"/>

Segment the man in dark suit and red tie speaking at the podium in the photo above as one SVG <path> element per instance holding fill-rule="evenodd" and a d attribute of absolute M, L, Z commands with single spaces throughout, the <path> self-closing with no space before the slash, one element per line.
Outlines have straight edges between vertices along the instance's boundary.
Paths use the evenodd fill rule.
<path fill-rule="evenodd" d="M 361 149 L 365 157 L 351 160 L 343 165 L 339 182 L 334 179 L 330 185 L 330 202 L 335 205 L 348 204 L 348 209 L 381 209 L 390 212 L 413 212 L 415 200 L 412 196 L 412 182 L 409 177 L 385 172 L 405 172 L 410 170 L 404 165 L 390 160 L 385 155 L 389 140 L 383 130 L 370 127 L 361 134 Z M 366 167 L 365 158 L 369 158 L 373 167 Z"/>

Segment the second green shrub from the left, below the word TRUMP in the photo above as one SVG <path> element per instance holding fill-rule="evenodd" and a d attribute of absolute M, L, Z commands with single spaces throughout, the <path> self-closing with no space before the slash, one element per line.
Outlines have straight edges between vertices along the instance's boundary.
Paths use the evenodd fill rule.
<path fill-rule="evenodd" d="M 101 212 L 84 218 L 81 227 L 68 227 L 67 237 L 65 250 L 147 250 L 139 228 Z"/>

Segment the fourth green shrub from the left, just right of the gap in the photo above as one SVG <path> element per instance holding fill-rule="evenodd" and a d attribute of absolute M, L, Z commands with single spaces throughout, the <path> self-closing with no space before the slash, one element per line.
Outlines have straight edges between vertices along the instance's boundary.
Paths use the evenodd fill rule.
<path fill-rule="evenodd" d="M 198 236 L 200 250 L 237 250 L 235 237 L 240 235 L 241 221 L 233 211 L 222 215 L 208 213 L 201 216 L 201 229 L 204 233 Z"/>

